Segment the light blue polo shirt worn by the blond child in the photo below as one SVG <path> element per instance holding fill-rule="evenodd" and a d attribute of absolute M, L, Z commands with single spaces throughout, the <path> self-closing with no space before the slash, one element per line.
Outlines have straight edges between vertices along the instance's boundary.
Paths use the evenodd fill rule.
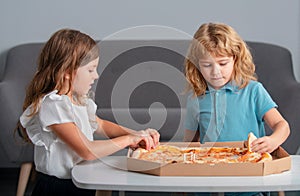
<path fill-rule="evenodd" d="M 243 141 L 253 132 L 265 135 L 263 117 L 277 107 L 263 85 L 257 81 L 239 89 L 232 83 L 205 95 L 189 95 L 185 128 L 200 131 L 200 142 Z"/>

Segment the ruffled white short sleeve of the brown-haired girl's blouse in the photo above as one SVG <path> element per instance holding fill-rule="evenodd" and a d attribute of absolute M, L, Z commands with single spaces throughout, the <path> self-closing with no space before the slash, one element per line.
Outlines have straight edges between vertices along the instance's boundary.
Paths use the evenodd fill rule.
<path fill-rule="evenodd" d="M 44 130 L 53 124 L 75 122 L 71 100 L 66 95 L 51 93 L 45 96 L 40 107 L 39 119 Z"/>

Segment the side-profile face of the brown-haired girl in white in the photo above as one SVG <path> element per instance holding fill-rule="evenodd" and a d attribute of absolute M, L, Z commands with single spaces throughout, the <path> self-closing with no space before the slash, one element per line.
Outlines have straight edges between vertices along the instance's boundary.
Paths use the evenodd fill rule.
<path fill-rule="evenodd" d="M 99 58 L 78 68 L 73 80 L 73 89 L 72 89 L 78 95 L 86 95 L 91 89 L 94 81 L 98 79 L 99 77 L 97 73 L 98 63 L 99 63 Z"/>

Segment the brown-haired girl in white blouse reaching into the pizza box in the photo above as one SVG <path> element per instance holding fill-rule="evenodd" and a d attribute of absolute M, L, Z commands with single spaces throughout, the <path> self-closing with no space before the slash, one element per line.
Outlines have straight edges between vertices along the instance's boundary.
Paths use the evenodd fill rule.
<path fill-rule="evenodd" d="M 154 148 L 159 133 L 134 131 L 96 116 L 88 97 L 98 79 L 99 49 L 88 35 L 62 29 L 48 40 L 38 61 L 20 117 L 24 135 L 34 145 L 39 173 L 33 195 L 94 195 L 78 189 L 71 169 L 82 160 L 95 160 L 127 146 Z M 110 140 L 93 140 L 93 134 Z"/>

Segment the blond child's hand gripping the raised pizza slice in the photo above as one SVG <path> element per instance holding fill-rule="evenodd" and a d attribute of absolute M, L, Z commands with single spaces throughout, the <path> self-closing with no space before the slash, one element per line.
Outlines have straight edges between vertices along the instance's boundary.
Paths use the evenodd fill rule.
<path fill-rule="evenodd" d="M 278 142 L 272 139 L 270 136 L 264 136 L 258 138 L 252 142 L 252 150 L 257 153 L 273 152 L 276 148 L 278 148 Z"/>

